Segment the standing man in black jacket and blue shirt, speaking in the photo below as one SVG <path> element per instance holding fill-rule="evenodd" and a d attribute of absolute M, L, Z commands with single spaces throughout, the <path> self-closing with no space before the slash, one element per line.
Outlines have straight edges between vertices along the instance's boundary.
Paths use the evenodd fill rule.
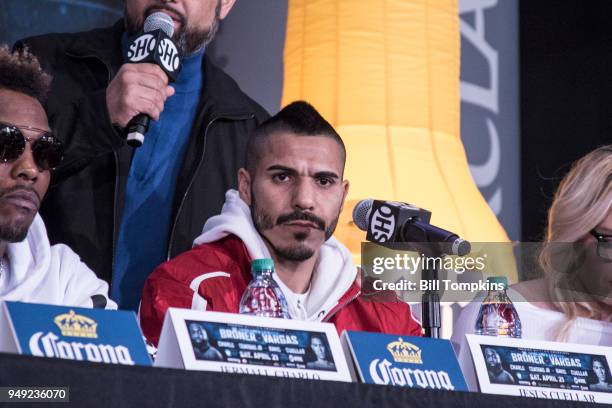
<path fill-rule="evenodd" d="M 121 308 L 136 309 L 148 274 L 189 249 L 220 211 L 248 135 L 267 117 L 206 56 L 234 2 L 126 0 L 125 19 L 113 27 L 16 45 L 55 77 L 46 110 L 66 159 L 41 209 L 51 241 L 70 245 L 110 282 Z M 182 54 L 174 83 L 159 66 L 126 58 L 156 12 L 171 18 Z M 133 148 L 125 128 L 139 114 L 153 122 Z"/>

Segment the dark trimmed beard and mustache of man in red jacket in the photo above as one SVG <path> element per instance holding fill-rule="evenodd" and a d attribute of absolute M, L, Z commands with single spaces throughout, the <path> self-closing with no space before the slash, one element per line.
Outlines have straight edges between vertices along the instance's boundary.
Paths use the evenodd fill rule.
<path fill-rule="evenodd" d="M 295 238 L 295 240 L 298 242 L 297 244 L 286 247 L 277 247 L 265 238 L 263 232 L 274 228 L 275 225 L 284 224 L 289 221 L 309 221 L 317 225 L 319 229 L 325 231 L 325 241 L 327 241 L 336 230 L 338 219 L 340 218 L 340 212 L 338 212 L 338 216 L 330 223 L 328 227 L 325 226 L 325 221 L 319 217 L 308 212 L 301 211 L 283 214 L 278 217 L 275 223 L 272 220 L 272 217 L 257 205 L 257 200 L 253 194 L 253 190 L 251 190 L 251 218 L 253 219 L 253 224 L 255 225 L 257 232 L 259 232 L 259 235 L 261 235 L 270 244 L 278 258 L 293 262 L 303 262 L 310 259 L 315 253 L 313 249 L 303 244 L 306 238 L 308 238 L 308 234 L 301 232 L 295 233 L 293 238 Z"/>

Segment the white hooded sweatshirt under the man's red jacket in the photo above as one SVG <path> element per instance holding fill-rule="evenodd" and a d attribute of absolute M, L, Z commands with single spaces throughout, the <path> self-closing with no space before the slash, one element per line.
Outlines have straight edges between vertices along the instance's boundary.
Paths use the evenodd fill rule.
<path fill-rule="evenodd" d="M 249 206 L 242 201 L 236 190 L 225 193 L 221 214 L 208 219 L 202 234 L 193 244 L 196 246 L 214 242 L 230 234 L 244 242 L 251 259 L 271 258 L 268 247 L 253 225 Z M 291 317 L 310 321 L 321 321 L 338 304 L 356 277 L 357 267 L 353 264 L 351 253 L 334 237 L 321 246 L 310 288 L 305 294 L 292 292 L 274 274 L 274 279 L 287 299 Z"/>

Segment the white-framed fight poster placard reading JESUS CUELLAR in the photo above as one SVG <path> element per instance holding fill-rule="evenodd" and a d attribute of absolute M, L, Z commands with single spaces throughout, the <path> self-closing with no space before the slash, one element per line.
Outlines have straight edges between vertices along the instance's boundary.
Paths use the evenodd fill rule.
<path fill-rule="evenodd" d="M 466 335 L 480 390 L 612 403 L 612 348 Z"/>

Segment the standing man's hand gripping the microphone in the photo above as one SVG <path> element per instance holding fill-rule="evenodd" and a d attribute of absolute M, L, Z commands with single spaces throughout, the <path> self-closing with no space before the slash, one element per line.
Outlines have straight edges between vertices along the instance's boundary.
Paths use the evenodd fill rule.
<path fill-rule="evenodd" d="M 126 127 L 140 113 L 158 120 L 174 88 L 155 64 L 124 64 L 106 88 L 106 107 L 113 125 Z"/>

